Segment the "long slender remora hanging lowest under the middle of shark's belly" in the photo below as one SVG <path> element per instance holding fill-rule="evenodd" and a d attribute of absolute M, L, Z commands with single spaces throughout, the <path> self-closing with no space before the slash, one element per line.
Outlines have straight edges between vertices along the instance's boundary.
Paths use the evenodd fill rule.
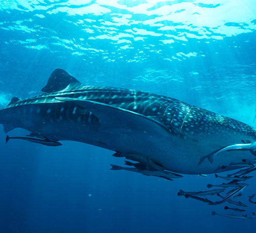
<path fill-rule="evenodd" d="M 161 177 L 161 178 L 165 178 L 167 180 L 172 180 L 172 178 L 181 178 L 182 175 L 170 172 L 170 171 L 161 171 L 161 170 L 154 170 L 154 171 L 150 171 L 147 169 L 138 169 L 138 168 L 123 168 L 121 166 L 118 165 L 113 165 L 110 164 L 112 166 L 112 168 L 110 168 L 110 170 L 126 170 L 126 171 L 134 171 L 143 175 L 147 175 L 147 176 L 157 176 L 157 177 Z"/>

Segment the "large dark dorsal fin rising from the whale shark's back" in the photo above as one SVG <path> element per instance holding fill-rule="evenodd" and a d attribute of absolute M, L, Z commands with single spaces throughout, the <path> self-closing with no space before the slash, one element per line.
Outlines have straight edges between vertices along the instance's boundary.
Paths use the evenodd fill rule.
<path fill-rule="evenodd" d="M 56 69 L 50 75 L 48 82 L 44 88 L 42 88 L 42 92 L 51 93 L 51 92 L 59 92 L 67 86 L 77 86 L 81 85 L 77 79 L 75 79 L 72 75 L 66 72 L 63 69 Z"/>

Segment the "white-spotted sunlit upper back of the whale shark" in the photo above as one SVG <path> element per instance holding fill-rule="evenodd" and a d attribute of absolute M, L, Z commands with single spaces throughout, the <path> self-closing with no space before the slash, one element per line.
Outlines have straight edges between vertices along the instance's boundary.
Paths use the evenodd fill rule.
<path fill-rule="evenodd" d="M 229 129 L 233 130 L 234 134 L 244 133 L 248 137 L 254 137 L 256 134 L 256 130 L 245 123 L 191 106 L 177 99 L 112 87 L 82 86 L 79 90 L 74 89 L 22 99 L 4 109 L 28 104 L 60 103 L 55 98 L 56 96 L 93 100 L 140 113 L 163 124 L 173 134 L 195 140 L 200 135 L 223 134 Z M 60 112 L 63 112 L 60 113 L 60 116 L 69 115 L 71 119 L 74 117 L 76 109 L 77 106 L 73 105 L 66 107 L 65 111 L 60 109 Z M 46 113 L 49 114 L 50 110 L 46 110 Z M 77 114 L 80 115 L 78 110 Z"/>

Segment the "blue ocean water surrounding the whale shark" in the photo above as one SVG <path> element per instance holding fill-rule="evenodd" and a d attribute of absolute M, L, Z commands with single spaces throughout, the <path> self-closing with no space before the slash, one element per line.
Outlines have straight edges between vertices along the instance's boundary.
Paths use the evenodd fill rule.
<path fill-rule="evenodd" d="M 0 105 L 41 94 L 61 68 L 85 85 L 166 95 L 251 126 L 256 107 L 254 0 L 1 0 Z M 25 131 L 15 129 L 12 135 Z M 177 195 L 214 175 L 168 181 L 129 171 L 112 151 L 73 141 L 5 144 L 0 126 L 0 232 L 253 232 L 255 219 L 211 216 Z M 214 142 L 213 142 L 214 143 Z M 141 145 L 145 147 L 147 145 Z M 252 216 L 248 196 L 240 198 Z M 232 206 L 230 206 L 232 207 Z"/>

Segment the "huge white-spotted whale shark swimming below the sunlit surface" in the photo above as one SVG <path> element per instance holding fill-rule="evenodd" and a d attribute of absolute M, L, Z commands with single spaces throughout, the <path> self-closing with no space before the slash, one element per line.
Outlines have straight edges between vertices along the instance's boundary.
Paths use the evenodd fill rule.
<path fill-rule="evenodd" d="M 31 132 L 20 138 L 45 145 L 74 140 L 104 147 L 139 162 L 135 170 L 142 174 L 207 174 L 241 168 L 255 158 L 254 128 L 177 99 L 84 86 L 62 69 L 50 75 L 42 91 L 14 97 L 0 110 L 6 133 L 19 127 Z"/>

